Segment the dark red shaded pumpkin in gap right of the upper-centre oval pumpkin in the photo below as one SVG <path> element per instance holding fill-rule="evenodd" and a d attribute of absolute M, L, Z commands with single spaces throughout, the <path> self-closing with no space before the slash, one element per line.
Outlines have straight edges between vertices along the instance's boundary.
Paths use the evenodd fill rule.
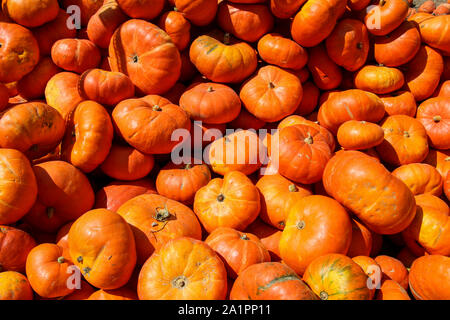
<path fill-rule="evenodd" d="M 308 69 L 319 89 L 336 89 L 342 82 L 342 71 L 330 59 L 324 45 L 319 45 L 309 50 Z"/>

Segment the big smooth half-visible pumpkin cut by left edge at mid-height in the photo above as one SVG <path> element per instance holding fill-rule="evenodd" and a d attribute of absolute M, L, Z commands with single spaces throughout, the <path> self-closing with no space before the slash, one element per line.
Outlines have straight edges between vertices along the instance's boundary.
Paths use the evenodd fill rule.
<path fill-rule="evenodd" d="M 38 187 L 30 161 L 15 149 L 0 149 L 0 224 L 21 219 L 36 201 Z"/>

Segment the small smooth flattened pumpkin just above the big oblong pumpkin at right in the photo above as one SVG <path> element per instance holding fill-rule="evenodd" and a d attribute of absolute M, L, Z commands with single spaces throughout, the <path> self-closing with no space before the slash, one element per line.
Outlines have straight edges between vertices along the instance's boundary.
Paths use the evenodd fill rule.
<path fill-rule="evenodd" d="M 383 129 L 371 122 L 349 120 L 339 126 L 337 140 L 347 150 L 365 150 L 383 142 Z"/>

